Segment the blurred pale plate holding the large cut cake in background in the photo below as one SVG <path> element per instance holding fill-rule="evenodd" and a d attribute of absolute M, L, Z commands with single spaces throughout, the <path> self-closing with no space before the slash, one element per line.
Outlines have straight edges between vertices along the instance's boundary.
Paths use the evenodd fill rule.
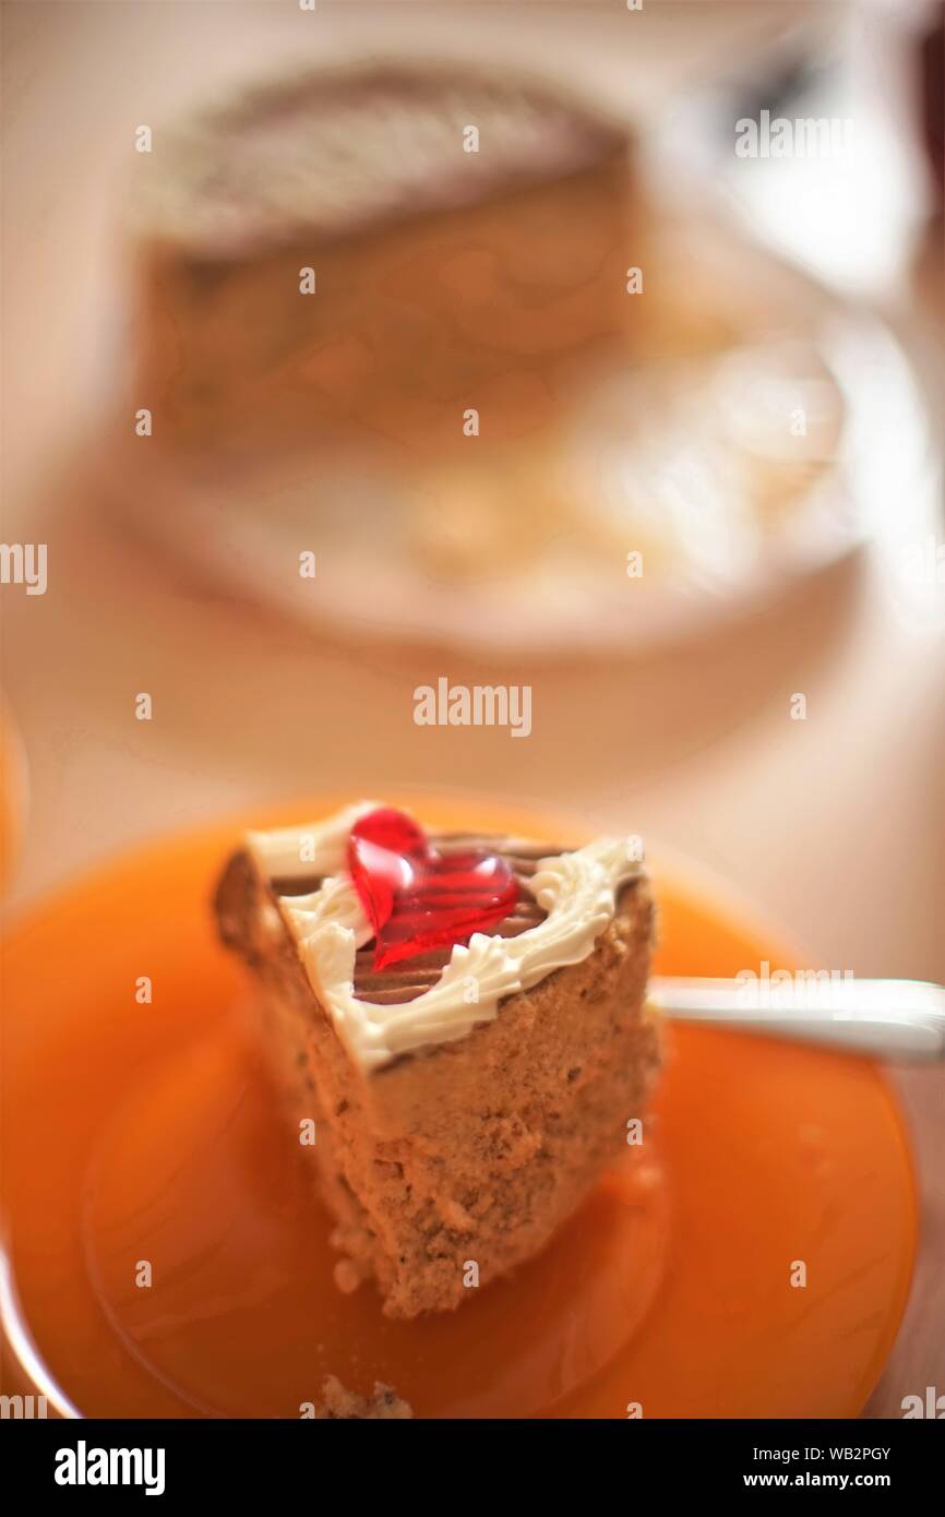
<path fill-rule="evenodd" d="M 660 316 L 646 361 L 634 355 L 575 417 L 555 466 L 564 516 L 493 520 L 494 542 L 458 578 L 419 546 L 423 487 L 411 495 L 381 473 L 319 476 L 308 461 L 279 479 L 196 479 L 155 452 L 147 472 L 140 452 L 105 452 L 109 499 L 221 589 L 312 628 L 537 657 L 646 652 L 781 598 L 872 536 L 919 542 L 934 520 L 934 469 L 921 397 L 886 328 L 714 223 L 683 218 L 667 235 L 693 270 L 687 316 L 675 326 Z M 675 290 L 680 275 L 660 270 Z M 734 349 L 721 349 L 733 328 Z M 815 378 L 795 385 L 807 370 Z M 833 384 L 839 438 L 818 419 Z M 807 438 L 790 432 L 798 399 Z M 796 467 L 795 451 L 824 449 L 831 461 L 793 504 L 758 507 L 778 467 Z M 748 504 L 745 460 L 758 496 Z M 526 472 L 519 488 L 528 496 Z M 514 492 L 499 510 L 516 513 Z M 314 578 L 299 575 L 305 551 Z M 640 576 L 628 575 L 629 552 L 643 555 Z"/>

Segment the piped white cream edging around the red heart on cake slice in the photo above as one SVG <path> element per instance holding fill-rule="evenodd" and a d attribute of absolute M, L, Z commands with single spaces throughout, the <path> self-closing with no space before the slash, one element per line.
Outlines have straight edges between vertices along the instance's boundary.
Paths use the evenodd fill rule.
<path fill-rule="evenodd" d="M 626 842 L 614 837 L 540 859 L 525 886 L 548 913 L 545 921 L 517 938 L 475 933 L 469 947 L 454 947 L 429 991 L 397 1006 L 376 1006 L 358 1000 L 353 989 L 355 953 L 373 930 L 346 872 L 350 828 L 376 806 L 361 801 L 323 822 L 247 834 L 247 846 L 268 878 L 325 877 L 311 895 L 281 897 L 279 907 L 314 994 L 366 1071 L 416 1048 L 466 1038 L 478 1022 L 496 1018 L 507 995 L 581 963 L 613 919 L 620 886 L 639 872 Z M 516 839 L 502 843 L 514 851 Z"/>

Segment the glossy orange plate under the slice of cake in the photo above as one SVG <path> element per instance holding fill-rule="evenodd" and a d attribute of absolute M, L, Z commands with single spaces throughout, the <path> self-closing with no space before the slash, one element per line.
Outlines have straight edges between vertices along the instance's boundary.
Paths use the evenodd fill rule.
<path fill-rule="evenodd" d="M 561 836 L 494 806 L 411 804 L 444 827 Z M 903 1121 L 865 1059 L 673 1027 L 642 1148 L 540 1259 L 411 1324 L 387 1321 L 370 1286 L 340 1296 L 306 1150 L 211 928 L 238 830 L 100 869 L 5 950 L 8 1327 L 26 1326 L 76 1408 L 299 1417 L 334 1373 L 359 1391 L 385 1380 L 426 1417 L 860 1411 L 916 1235 Z M 657 883 L 660 971 L 784 966 L 719 907 Z M 150 1004 L 135 995 L 144 975 Z"/>

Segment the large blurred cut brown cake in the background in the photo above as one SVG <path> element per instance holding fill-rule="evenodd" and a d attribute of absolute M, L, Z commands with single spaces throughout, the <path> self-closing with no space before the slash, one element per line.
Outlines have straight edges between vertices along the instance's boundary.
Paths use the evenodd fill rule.
<path fill-rule="evenodd" d="M 410 464 L 469 457 L 473 408 L 494 454 L 554 425 L 619 340 L 626 132 L 551 83 L 308 74 L 147 170 L 137 393 L 162 446 Z"/>

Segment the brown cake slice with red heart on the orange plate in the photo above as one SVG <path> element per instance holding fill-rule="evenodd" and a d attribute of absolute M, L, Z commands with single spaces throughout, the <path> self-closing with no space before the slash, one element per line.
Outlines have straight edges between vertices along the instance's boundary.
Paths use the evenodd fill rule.
<path fill-rule="evenodd" d="M 372 802 L 249 833 L 217 889 L 337 1282 L 443 1311 L 528 1259 L 640 1117 L 654 907 L 628 846 L 432 836 Z"/>

